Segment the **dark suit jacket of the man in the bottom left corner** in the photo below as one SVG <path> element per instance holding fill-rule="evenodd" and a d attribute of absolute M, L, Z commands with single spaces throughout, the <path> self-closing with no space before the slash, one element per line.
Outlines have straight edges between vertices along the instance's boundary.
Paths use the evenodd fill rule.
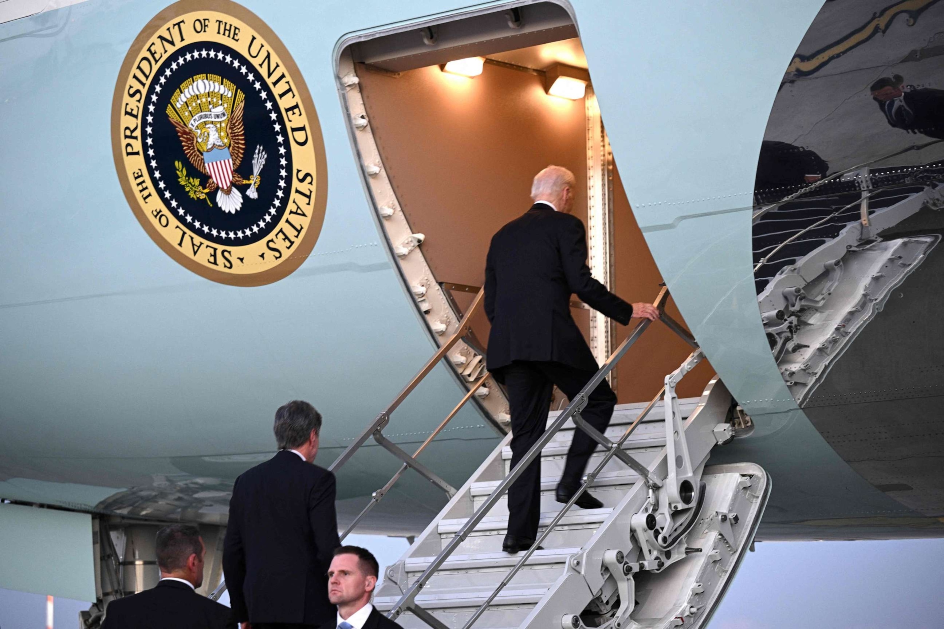
<path fill-rule="evenodd" d="M 139 594 L 109 604 L 102 629 L 232 629 L 236 621 L 223 604 L 186 584 L 161 581 Z"/>

